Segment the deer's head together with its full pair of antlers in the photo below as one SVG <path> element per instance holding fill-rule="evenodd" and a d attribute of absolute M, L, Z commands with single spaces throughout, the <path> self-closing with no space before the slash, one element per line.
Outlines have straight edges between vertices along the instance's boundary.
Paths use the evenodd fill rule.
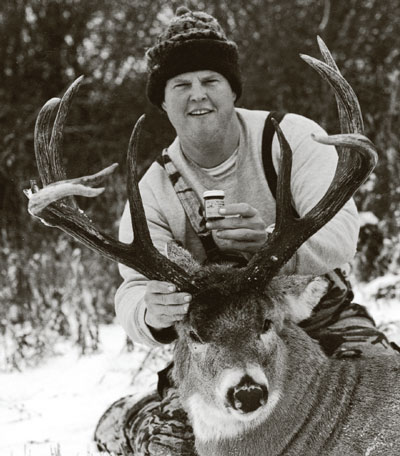
<path fill-rule="evenodd" d="M 62 100 L 47 102 L 37 119 L 35 151 L 44 188 L 39 190 L 33 184 L 27 192 L 32 215 L 149 279 L 172 282 L 193 295 L 187 317 L 177 324 L 174 376 L 195 418 L 195 432 L 196 423 L 199 424 L 197 434 L 210 416 L 226 423 L 230 429 L 227 432 L 243 430 L 248 423 L 265 419 L 279 401 L 287 358 L 302 350 L 313 353 L 315 365 L 324 358 L 296 322 L 309 315 L 327 284 L 320 278 L 283 278 L 277 274 L 296 250 L 352 197 L 374 168 L 377 154 L 363 136 L 361 112 L 353 90 L 322 40 L 319 45 L 325 63 L 308 56 L 302 58 L 330 83 L 337 99 L 342 134 L 314 138 L 337 146 L 335 176 L 321 201 L 303 217 L 294 217 L 290 193 L 292 152 L 275 122 L 282 153 L 275 231 L 241 269 L 202 267 L 182 252 L 174 262 L 154 248 L 136 175 L 143 117 L 137 122 L 128 147 L 128 198 L 134 231 L 130 245 L 97 230 L 73 201 L 73 195 L 91 197 L 101 193 L 103 188 L 93 187 L 109 176 L 116 165 L 73 180 L 65 179 L 60 165 L 63 125 L 81 79 L 72 84 Z M 295 339 L 300 341 L 297 351 L 293 349 Z M 212 409 L 211 415 L 196 412 L 207 408 Z"/>

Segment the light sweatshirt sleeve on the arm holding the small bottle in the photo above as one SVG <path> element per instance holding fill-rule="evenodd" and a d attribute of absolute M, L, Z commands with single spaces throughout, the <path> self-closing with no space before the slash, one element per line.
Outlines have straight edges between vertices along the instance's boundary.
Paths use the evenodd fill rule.
<path fill-rule="evenodd" d="M 333 146 L 314 141 L 311 133 L 326 134 L 315 122 L 289 114 L 282 121 L 282 130 L 291 144 L 293 165 L 291 191 L 294 207 L 305 215 L 323 197 L 335 174 L 338 161 Z M 273 157 L 279 168 L 279 145 L 274 138 Z M 351 261 L 356 253 L 359 219 L 351 199 L 323 228 L 306 241 L 282 272 L 324 274 Z"/>

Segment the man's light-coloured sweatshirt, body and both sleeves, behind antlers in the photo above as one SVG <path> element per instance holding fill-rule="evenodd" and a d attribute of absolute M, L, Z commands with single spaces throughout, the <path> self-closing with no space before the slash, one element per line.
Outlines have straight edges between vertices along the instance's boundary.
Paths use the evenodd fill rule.
<path fill-rule="evenodd" d="M 275 222 L 275 199 L 266 181 L 261 142 L 267 111 L 236 109 L 240 123 L 240 142 L 236 165 L 218 179 L 210 176 L 186 159 L 179 139 L 169 146 L 168 153 L 177 170 L 190 182 L 200 198 L 205 190 L 224 190 L 225 203 L 246 202 L 255 207 L 267 226 Z M 325 194 L 336 169 L 337 152 L 334 147 L 321 145 L 311 133 L 324 134 L 315 122 L 296 114 L 287 114 L 281 129 L 293 151 L 291 191 L 293 204 L 300 216 L 306 214 Z M 279 170 L 280 148 L 276 135 L 272 142 L 272 159 Z M 154 245 L 165 253 L 170 240 L 180 241 L 200 262 L 205 260 L 202 244 L 193 231 L 164 168 L 153 163 L 140 182 L 147 222 Z M 305 242 L 282 273 L 320 275 L 348 261 L 356 252 L 359 222 L 354 201 L 343 209 L 321 230 Z M 120 240 L 132 242 L 133 234 L 128 204 L 120 223 Z M 143 296 L 147 279 L 136 271 L 119 265 L 124 279 L 115 297 L 119 322 L 129 337 L 149 346 L 157 342 L 144 321 Z"/>

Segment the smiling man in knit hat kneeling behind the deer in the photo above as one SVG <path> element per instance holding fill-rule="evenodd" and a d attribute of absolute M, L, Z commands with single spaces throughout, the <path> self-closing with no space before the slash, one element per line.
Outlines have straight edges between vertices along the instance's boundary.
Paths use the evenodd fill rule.
<path fill-rule="evenodd" d="M 230 255 L 234 261 L 248 260 L 266 241 L 275 221 L 275 198 L 261 158 L 268 112 L 235 108 L 242 90 L 237 46 L 226 38 L 215 18 L 180 8 L 147 56 L 148 97 L 166 112 L 177 133 L 162 160 L 150 167 L 140 183 L 153 242 L 164 252 L 168 241 L 179 241 L 200 262 L 213 261 L 216 252 L 220 258 Z M 281 128 L 293 150 L 293 207 L 302 216 L 328 188 L 337 154 L 333 147 L 311 139 L 311 133 L 323 130 L 309 119 L 287 114 Z M 271 166 L 278 170 L 276 137 L 271 154 Z M 225 192 L 221 212 L 225 218 L 204 226 L 199 214 L 202 194 L 214 189 Z M 325 349 L 330 355 L 359 354 L 359 348 L 346 345 L 340 331 L 340 337 L 326 337 L 334 332 L 338 320 L 341 327 L 373 326 L 360 306 L 350 304 L 352 293 L 344 276 L 338 269 L 332 272 L 353 258 L 358 229 L 356 207 L 349 201 L 282 270 L 329 274 L 332 285 L 319 305 L 320 314 L 305 327 L 321 343 L 327 340 Z M 132 241 L 128 207 L 122 216 L 120 239 Z M 176 337 L 173 325 L 184 318 L 191 296 L 169 283 L 148 281 L 125 266 L 120 271 L 124 282 L 116 295 L 116 313 L 128 335 L 149 346 L 172 342 Z M 174 409 L 174 401 L 176 397 L 167 394 L 160 409 L 165 403 L 169 410 Z M 157 440 L 153 432 L 148 434 Z M 176 454 L 181 454 L 185 438 L 180 436 L 180 449 L 174 438 Z M 162 438 L 157 444 L 162 447 Z"/>

